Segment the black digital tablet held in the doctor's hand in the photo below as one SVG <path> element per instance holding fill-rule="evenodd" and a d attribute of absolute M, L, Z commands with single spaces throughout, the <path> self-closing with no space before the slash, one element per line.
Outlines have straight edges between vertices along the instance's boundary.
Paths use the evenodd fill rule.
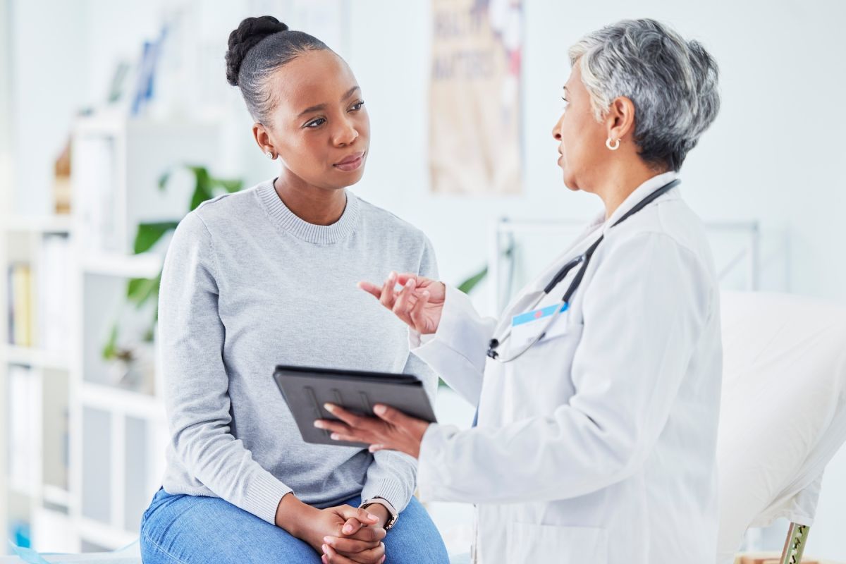
<path fill-rule="evenodd" d="M 323 408 L 324 403 L 334 403 L 371 417 L 375 417 L 373 406 L 382 403 L 411 417 L 437 423 L 423 382 L 413 375 L 280 365 L 273 371 L 273 380 L 294 414 L 305 442 L 369 446 L 360 442 L 332 441 L 328 430 L 317 429 L 314 426 L 316 419 L 338 420 Z"/>

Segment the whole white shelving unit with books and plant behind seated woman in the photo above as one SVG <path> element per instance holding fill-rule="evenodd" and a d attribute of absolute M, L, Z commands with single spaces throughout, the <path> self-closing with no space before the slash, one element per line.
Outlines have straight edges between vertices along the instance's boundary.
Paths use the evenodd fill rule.
<path fill-rule="evenodd" d="M 34 468 L 26 485 L 10 482 L 5 458 L 12 441 L 0 438 L 0 531 L 8 536 L 11 524 L 28 523 L 39 551 L 113 550 L 138 537 L 141 514 L 161 485 L 167 427 L 155 343 L 133 339 L 152 311 L 127 305 L 126 287 L 132 278 L 157 276 L 167 242 L 144 255 L 133 255 L 131 245 L 139 222 L 179 219 L 187 211 L 192 175 L 176 175 L 160 190 L 162 173 L 208 166 L 219 155 L 217 127 L 209 124 L 80 118 L 73 137 L 70 216 L 21 217 L 0 208 L 0 413 L 8 413 L 12 399 L 10 373 L 23 374 L 17 367 L 29 370 L 37 392 L 25 425 L 35 437 L 26 451 Z M 41 342 L 58 322 L 43 315 L 48 292 L 40 263 L 52 234 L 69 241 L 63 350 Z M 8 335 L 8 268 L 19 262 L 30 265 L 34 296 L 33 340 L 25 347 L 9 344 Z M 121 344 L 149 357 L 141 386 L 127 386 L 116 362 L 103 359 L 116 322 L 129 336 Z"/>

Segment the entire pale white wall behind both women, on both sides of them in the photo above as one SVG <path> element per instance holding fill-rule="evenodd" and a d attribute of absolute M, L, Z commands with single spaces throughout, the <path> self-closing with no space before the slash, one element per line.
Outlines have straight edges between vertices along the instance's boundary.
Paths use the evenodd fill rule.
<path fill-rule="evenodd" d="M 846 302 L 846 222 L 839 221 L 846 204 L 840 173 L 846 157 L 840 109 L 846 90 L 841 44 L 846 3 L 524 2 L 525 194 L 462 198 L 428 189 L 428 1 L 321 0 L 349 14 L 338 50 L 357 75 L 371 114 L 371 157 L 356 191 L 424 229 L 445 280 L 458 282 L 484 263 L 486 227 L 498 216 L 586 219 L 599 210 L 593 197 L 563 188 L 556 166 L 550 131 L 569 74 L 566 51 L 601 25 L 648 16 L 703 41 L 722 69 L 722 111 L 685 163 L 686 199 L 706 220 L 761 222 L 763 287 Z M 184 4 L 204 45 L 198 85 L 217 88 L 226 36 L 239 19 L 270 10 L 285 20 L 285 10 L 293 11 L 296 3 Z M 49 185 L 74 109 L 105 96 L 115 57 L 133 56 L 140 41 L 157 35 L 165 5 L 164 0 L 119 6 L 107 0 L 14 0 L 19 210 L 46 210 L 46 194 L 35 188 Z M 289 23 L 297 27 L 298 22 Z M 47 36 L 51 41 L 44 41 Z M 211 57 L 216 52 L 220 58 Z M 230 132 L 225 172 L 250 182 L 269 177 L 272 168 L 253 145 L 237 93 L 230 89 L 220 96 Z M 838 531 L 846 518 L 843 476 L 846 452 L 828 468 L 809 550 L 846 559 Z"/>

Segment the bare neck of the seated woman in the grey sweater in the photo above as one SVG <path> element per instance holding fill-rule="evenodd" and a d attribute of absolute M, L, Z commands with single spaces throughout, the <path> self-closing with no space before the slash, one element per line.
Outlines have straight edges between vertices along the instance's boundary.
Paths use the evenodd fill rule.
<path fill-rule="evenodd" d="M 332 225 L 338 222 L 347 206 L 345 189 L 317 188 L 292 177 L 283 170 L 273 181 L 273 188 L 288 210 L 312 225 Z"/>

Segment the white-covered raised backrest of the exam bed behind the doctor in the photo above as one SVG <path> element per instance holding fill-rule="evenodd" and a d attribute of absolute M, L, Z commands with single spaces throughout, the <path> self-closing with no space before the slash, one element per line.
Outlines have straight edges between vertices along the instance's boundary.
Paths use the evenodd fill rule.
<path fill-rule="evenodd" d="M 846 439 L 846 308 L 722 294 L 719 561 L 746 528 L 810 525 L 822 472 Z"/>

